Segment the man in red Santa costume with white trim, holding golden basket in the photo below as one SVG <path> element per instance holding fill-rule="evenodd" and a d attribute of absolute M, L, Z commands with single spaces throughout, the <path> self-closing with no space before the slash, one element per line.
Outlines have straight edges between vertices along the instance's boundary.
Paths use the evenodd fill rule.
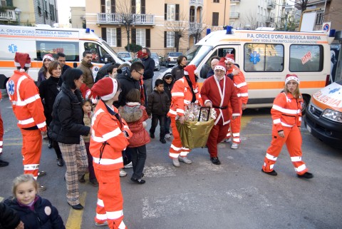
<path fill-rule="evenodd" d="M 228 113 L 229 102 L 232 105 L 232 118 L 240 116 L 239 98 L 237 97 L 233 81 L 225 76 L 226 66 L 224 60 L 224 58 L 221 58 L 214 68 L 214 76 L 207 78 L 201 88 L 204 105 L 215 108 L 217 113 L 214 127 L 210 131 L 207 141 L 210 161 L 215 165 L 221 164 L 217 157 L 217 144 L 227 136 L 230 122 Z"/>

